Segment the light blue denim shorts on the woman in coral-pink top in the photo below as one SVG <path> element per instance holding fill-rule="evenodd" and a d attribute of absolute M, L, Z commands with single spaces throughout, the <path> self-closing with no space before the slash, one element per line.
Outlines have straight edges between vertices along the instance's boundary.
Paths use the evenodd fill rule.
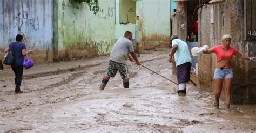
<path fill-rule="evenodd" d="M 214 71 L 214 79 L 226 79 L 226 78 L 233 78 L 233 69 L 215 69 Z"/>

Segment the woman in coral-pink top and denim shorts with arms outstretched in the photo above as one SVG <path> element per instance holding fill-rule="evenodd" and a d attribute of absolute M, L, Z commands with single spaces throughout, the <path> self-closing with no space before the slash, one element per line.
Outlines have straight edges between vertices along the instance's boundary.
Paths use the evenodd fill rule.
<path fill-rule="evenodd" d="M 231 36 L 223 35 L 221 38 L 221 45 L 212 47 L 211 49 L 205 50 L 204 54 L 216 53 L 217 63 L 216 69 L 214 71 L 214 82 L 216 86 L 215 92 L 215 104 L 214 106 L 219 109 L 219 98 L 222 91 L 223 81 L 225 83 L 225 108 L 230 110 L 230 93 L 231 93 L 231 83 L 233 79 L 233 69 L 232 69 L 232 57 L 233 55 L 243 58 L 245 60 L 256 61 L 256 57 L 248 57 L 242 55 L 237 49 L 230 46 Z"/>

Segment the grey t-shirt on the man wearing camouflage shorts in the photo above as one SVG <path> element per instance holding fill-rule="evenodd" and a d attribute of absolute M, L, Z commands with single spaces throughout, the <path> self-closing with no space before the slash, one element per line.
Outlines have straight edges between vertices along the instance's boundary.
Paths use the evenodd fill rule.
<path fill-rule="evenodd" d="M 126 64 L 129 53 L 132 51 L 134 51 L 132 42 L 125 37 L 121 37 L 117 40 L 116 44 L 114 44 L 109 59 L 118 63 Z"/>

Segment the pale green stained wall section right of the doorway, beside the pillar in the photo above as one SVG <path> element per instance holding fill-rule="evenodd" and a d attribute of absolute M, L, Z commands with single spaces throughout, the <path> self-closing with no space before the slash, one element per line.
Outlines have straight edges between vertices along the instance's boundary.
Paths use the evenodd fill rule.
<path fill-rule="evenodd" d="M 151 49 L 170 41 L 170 1 L 137 0 L 139 49 Z"/>

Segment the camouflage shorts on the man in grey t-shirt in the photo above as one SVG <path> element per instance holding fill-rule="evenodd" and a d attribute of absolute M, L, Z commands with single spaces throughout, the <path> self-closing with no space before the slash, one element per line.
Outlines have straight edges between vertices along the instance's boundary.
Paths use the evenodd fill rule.
<path fill-rule="evenodd" d="M 109 77 L 114 77 L 116 76 L 117 71 L 119 71 L 122 79 L 129 79 L 129 71 L 126 64 L 109 60 L 109 68 L 107 68 L 106 75 Z"/>

